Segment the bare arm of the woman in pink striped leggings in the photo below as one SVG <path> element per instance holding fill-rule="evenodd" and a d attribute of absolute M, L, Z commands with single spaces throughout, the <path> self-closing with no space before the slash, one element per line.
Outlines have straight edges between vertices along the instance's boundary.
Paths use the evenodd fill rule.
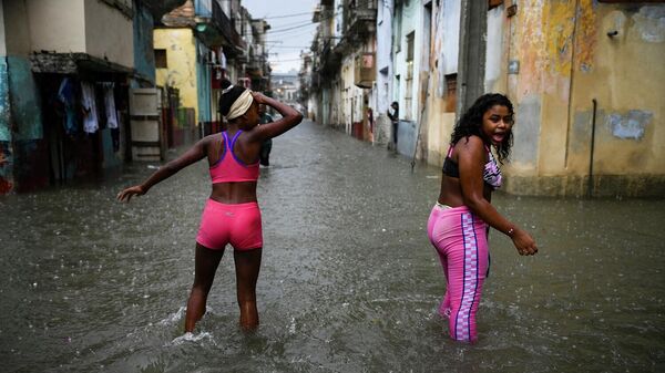
<path fill-rule="evenodd" d="M 520 255 L 536 253 L 538 248 L 531 235 L 499 214 L 483 196 L 482 172 L 487 155 L 482 139 L 471 136 L 468 142 L 460 141 L 458 144 L 458 165 L 464 205 L 489 226 L 508 235 Z"/>

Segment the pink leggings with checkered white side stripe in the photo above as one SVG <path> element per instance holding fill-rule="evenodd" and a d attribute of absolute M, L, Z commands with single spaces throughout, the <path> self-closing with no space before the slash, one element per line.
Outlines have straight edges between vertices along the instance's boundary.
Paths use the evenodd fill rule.
<path fill-rule="evenodd" d="M 448 318 L 450 336 L 456 341 L 478 339 L 475 313 L 488 269 L 485 228 L 485 222 L 467 206 L 437 205 L 427 224 L 446 274 L 446 296 L 439 313 Z"/>

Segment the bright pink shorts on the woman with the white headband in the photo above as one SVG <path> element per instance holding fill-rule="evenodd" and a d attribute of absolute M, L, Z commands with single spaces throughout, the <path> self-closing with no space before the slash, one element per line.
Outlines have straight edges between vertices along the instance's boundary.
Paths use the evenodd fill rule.
<path fill-rule="evenodd" d="M 196 242 L 213 250 L 222 250 L 227 244 L 235 250 L 263 247 L 258 204 L 226 205 L 208 199 L 201 217 Z"/>

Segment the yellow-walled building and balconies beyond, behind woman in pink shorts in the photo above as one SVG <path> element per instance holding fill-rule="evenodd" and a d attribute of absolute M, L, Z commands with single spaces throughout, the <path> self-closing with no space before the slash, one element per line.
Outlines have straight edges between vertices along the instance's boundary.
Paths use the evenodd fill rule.
<path fill-rule="evenodd" d="M 157 84 L 176 89 L 184 108 L 193 108 L 201 135 L 218 132 L 221 81 L 256 91 L 269 87 L 265 33 L 269 24 L 253 20 L 239 0 L 186 1 L 162 18 L 154 30 Z"/>

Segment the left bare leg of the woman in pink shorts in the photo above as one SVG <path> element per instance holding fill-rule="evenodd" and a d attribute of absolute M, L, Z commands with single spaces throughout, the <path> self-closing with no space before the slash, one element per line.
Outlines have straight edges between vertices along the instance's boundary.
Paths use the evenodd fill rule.
<path fill-rule="evenodd" d="M 194 331 L 196 322 L 205 314 L 207 294 L 213 287 L 213 280 L 215 280 L 215 272 L 222 256 L 224 256 L 224 249 L 211 250 L 196 244 L 194 286 L 192 286 L 192 292 L 187 301 L 185 333 Z"/>

